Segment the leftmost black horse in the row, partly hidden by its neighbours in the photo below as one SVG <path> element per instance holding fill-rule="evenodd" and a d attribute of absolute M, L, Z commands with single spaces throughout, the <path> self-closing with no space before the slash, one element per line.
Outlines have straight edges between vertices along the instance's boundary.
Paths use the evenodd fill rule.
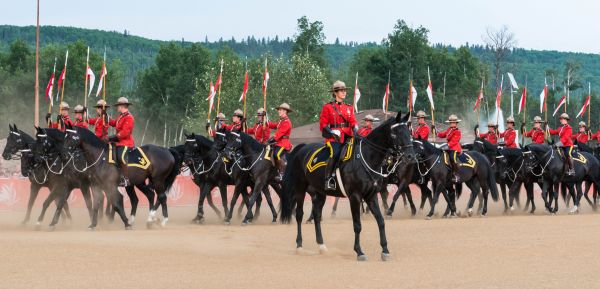
<path fill-rule="evenodd" d="M 16 124 L 9 125 L 10 132 L 6 138 L 6 146 L 2 152 L 2 157 L 5 160 L 17 160 L 21 161 L 21 175 L 29 178 L 29 201 L 27 202 L 27 212 L 25 218 L 21 224 L 25 225 L 31 218 L 31 210 L 37 199 L 38 193 L 41 188 L 50 189 L 50 180 L 48 178 L 48 168 L 44 163 L 35 162 L 35 156 L 33 148 L 35 145 L 35 139 L 25 133 L 24 131 L 17 128 Z M 62 181 L 59 180 L 59 181 Z M 58 199 L 54 202 L 58 204 Z M 63 207 L 63 214 L 71 219 L 71 213 L 69 212 L 69 205 L 65 204 Z"/>

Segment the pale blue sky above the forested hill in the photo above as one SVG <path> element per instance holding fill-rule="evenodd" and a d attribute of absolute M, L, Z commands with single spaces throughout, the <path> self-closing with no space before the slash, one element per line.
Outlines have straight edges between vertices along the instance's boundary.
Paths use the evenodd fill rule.
<path fill-rule="evenodd" d="M 569 0 L 40 0 L 41 25 L 123 31 L 151 39 L 293 37 L 296 19 L 321 21 L 327 42 L 380 42 L 398 19 L 429 29 L 431 43 L 483 43 L 508 26 L 517 46 L 600 52 L 600 2 Z M 34 0 L 0 0 L 0 24 L 35 25 Z"/>

